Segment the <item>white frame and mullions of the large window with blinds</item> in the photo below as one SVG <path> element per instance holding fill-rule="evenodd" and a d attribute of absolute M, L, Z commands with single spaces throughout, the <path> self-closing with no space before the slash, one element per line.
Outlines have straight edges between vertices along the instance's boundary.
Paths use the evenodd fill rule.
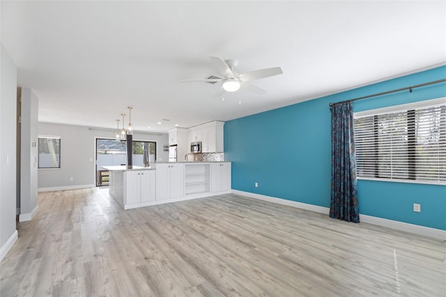
<path fill-rule="evenodd" d="M 418 101 L 418 102 L 411 102 L 403 105 L 394 105 L 390 107 L 382 107 L 378 109 L 369 109 L 364 110 L 361 112 L 354 112 L 353 113 L 353 119 L 360 119 L 364 117 L 370 117 L 374 116 L 375 121 L 378 118 L 378 116 L 383 114 L 391 114 L 395 112 L 406 112 L 407 114 L 407 136 L 408 139 L 415 139 L 415 109 L 420 108 L 429 108 L 434 107 L 438 105 L 446 105 L 446 97 L 443 98 L 436 98 L 431 100 L 424 100 L 424 101 Z M 378 147 L 378 133 L 376 132 L 377 128 L 376 125 L 374 125 L 374 135 L 375 135 L 375 147 Z M 356 137 L 356 136 L 355 136 Z M 415 159 L 415 147 L 416 144 L 413 143 L 413 145 L 408 144 L 408 162 L 407 167 L 410 169 L 410 167 L 415 167 L 415 162 L 417 160 Z M 374 149 L 375 153 L 377 153 L 376 148 Z M 429 184 L 429 185 L 446 185 L 446 181 L 441 180 L 434 180 L 434 179 L 416 179 L 415 175 L 416 172 L 411 172 L 408 170 L 408 178 L 398 178 L 398 177 L 380 177 L 379 176 L 379 168 L 378 166 L 374 167 L 374 177 L 371 176 L 357 176 L 358 180 L 366 180 L 366 181 L 387 181 L 387 182 L 394 182 L 394 183 L 419 183 L 419 184 Z"/>

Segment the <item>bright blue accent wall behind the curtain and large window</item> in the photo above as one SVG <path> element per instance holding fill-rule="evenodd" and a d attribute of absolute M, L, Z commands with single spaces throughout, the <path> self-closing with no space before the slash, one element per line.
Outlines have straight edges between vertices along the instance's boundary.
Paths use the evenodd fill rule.
<path fill-rule="evenodd" d="M 390 79 L 224 125 L 225 159 L 232 188 L 330 207 L 330 102 L 446 78 L 446 66 Z M 446 96 L 446 83 L 353 103 L 355 112 Z M 259 183 L 259 188 L 254 183 Z M 360 213 L 446 230 L 446 186 L 358 180 Z M 413 204 L 421 204 L 421 212 Z"/>

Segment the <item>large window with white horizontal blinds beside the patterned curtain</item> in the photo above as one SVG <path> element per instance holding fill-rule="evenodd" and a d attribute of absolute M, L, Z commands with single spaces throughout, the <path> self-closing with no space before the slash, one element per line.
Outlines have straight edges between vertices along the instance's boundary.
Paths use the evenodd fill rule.
<path fill-rule="evenodd" d="M 446 185 L 446 98 L 354 118 L 358 178 Z"/>

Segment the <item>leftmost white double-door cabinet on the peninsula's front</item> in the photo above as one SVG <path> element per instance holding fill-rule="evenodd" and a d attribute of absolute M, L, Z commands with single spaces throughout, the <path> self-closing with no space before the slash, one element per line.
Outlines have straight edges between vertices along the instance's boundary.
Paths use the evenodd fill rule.
<path fill-rule="evenodd" d="M 124 204 L 139 204 L 155 199 L 155 171 L 129 170 L 124 173 Z"/>

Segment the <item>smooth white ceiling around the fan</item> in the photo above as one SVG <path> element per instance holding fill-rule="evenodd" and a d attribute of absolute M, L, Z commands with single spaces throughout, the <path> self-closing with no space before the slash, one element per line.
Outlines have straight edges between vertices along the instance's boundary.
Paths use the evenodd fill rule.
<path fill-rule="evenodd" d="M 135 130 L 164 132 L 442 65 L 445 20 L 445 1 L 1 1 L 1 43 L 39 121 L 116 128 L 132 106 Z M 180 82 L 216 73 L 208 56 L 284 73 L 222 100 Z"/>

